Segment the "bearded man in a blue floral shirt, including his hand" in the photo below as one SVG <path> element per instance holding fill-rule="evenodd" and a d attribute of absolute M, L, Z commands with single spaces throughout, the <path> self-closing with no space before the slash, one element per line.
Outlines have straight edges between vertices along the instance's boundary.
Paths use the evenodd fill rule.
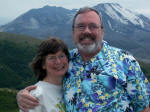
<path fill-rule="evenodd" d="M 136 60 L 126 51 L 103 41 L 99 13 L 81 8 L 73 19 L 69 75 L 64 78 L 67 112 L 150 112 L 150 86 Z M 18 93 L 21 109 L 32 108 L 36 98 L 27 87 Z"/>

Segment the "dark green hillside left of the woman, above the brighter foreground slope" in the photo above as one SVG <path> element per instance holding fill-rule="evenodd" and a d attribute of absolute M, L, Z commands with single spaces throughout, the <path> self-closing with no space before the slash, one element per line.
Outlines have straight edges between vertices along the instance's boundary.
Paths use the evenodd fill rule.
<path fill-rule="evenodd" d="M 0 33 L 0 88 L 21 89 L 35 82 L 29 62 L 41 40 Z"/>

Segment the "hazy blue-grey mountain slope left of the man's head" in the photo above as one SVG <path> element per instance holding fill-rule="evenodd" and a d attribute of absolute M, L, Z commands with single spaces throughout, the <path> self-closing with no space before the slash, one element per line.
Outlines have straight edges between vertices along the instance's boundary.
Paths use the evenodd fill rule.
<path fill-rule="evenodd" d="M 11 23 L 0 27 L 0 31 L 26 34 L 42 39 L 48 36 L 60 37 L 69 43 L 72 39 L 71 22 L 73 12 L 75 10 L 55 6 L 32 9 Z"/>

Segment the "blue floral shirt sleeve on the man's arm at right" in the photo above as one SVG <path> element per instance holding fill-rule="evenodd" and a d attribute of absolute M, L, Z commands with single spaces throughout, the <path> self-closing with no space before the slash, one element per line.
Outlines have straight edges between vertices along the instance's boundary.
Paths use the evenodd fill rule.
<path fill-rule="evenodd" d="M 129 55 L 127 65 L 127 92 L 135 112 L 140 112 L 149 106 L 150 83 L 143 74 L 139 63 Z"/>

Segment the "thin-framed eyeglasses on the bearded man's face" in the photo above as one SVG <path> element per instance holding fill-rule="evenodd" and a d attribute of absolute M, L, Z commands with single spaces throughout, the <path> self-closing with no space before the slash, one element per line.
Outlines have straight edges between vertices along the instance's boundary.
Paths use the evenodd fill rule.
<path fill-rule="evenodd" d="M 86 29 L 86 27 L 88 27 L 88 29 L 91 31 L 95 31 L 95 30 L 100 28 L 100 25 L 97 25 L 97 24 L 88 24 L 88 25 L 78 24 L 78 25 L 75 25 L 75 28 L 79 31 L 84 31 Z"/>

